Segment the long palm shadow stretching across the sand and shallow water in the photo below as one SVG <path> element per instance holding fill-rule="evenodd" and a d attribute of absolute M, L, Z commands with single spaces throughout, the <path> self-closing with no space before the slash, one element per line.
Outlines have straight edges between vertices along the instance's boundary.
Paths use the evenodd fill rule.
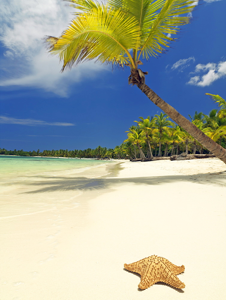
<path fill-rule="evenodd" d="M 220 176 L 215 176 L 219 175 Z M 204 177 L 205 175 L 205 177 Z M 210 176 L 208 176 L 210 175 Z M 67 190 L 101 190 L 101 189 L 114 189 L 115 187 L 124 184 L 163 184 L 171 182 L 198 182 L 201 184 L 224 184 L 226 173 L 211 173 L 208 174 L 208 180 L 206 174 L 195 175 L 174 175 L 174 176 L 153 176 L 153 177 L 135 177 L 135 178 L 104 178 L 104 179 L 88 179 L 86 177 L 43 177 L 43 180 L 38 182 L 32 182 L 32 187 L 40 187 L 35 190 L 25 192 L 27 194 L 53 192 L 53 191 L 67 191 Z"/>

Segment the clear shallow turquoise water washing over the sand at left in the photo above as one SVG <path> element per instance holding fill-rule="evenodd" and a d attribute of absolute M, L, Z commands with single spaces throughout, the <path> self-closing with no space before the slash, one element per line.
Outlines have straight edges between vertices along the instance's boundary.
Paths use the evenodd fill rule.
<path fill-rule="evenodd" d="M 0 165 L 0 218 L 11 218 L 80 205 L 79 196 L 117 162 L 0 156 Z"/>

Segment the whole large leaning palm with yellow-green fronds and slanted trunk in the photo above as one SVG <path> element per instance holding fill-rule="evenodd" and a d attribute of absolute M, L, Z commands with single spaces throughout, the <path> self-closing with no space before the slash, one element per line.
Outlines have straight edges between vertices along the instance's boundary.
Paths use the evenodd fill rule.
<path fill-rule="evenodd" d="M 49 51 L 63 61 L 62 71 L 90 59 L 130 67 L 129 83 L 145 95 L 174 122 L 226 164 L 226 150 L 163 101 L 145 84 L 138 65 L 141 59 L 157 56 L 174 41 L 178 26 L 189 22 L 196 0 L 68 0 L 76 8 L 72 20 L 59 38 L 48 36 Z"/>

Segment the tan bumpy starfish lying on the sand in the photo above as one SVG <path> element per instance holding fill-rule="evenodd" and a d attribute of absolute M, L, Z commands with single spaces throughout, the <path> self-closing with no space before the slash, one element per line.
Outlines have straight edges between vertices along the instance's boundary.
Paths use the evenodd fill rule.
<path fill-rule="evenodd" d="M 182 273 L 184 265 L 178 267 L 168 259 L 152 255 L 130 264 L 124 264 L 126 270 L 136 272 L 141 275 L 140 289 L 147 289 L 156 282 L 165 282 L 178 289 L 183 289 L 185 284 L 176 275 Z"/>

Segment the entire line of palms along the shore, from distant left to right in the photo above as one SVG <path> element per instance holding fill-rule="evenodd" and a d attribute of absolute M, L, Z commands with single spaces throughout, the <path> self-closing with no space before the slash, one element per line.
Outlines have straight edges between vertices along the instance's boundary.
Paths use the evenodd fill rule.
<path fill-rule="evenodd" d="M 213 109 L 208 115 L 197 111 L 190 116 L 191 122 L 195 124 L 204 134 L 213 141 L 226 147 L 226 102 L 219 95 L 211 95 L 218 104 L 218 109 Z M 187 154 L 207 154 L 209 151 L 197 142 L 181 126 L 169 120 L 165 113 L 148 116 L 146 119 L 139 117 L 134 121 L 127 132 L 127 139 L 114 149 L 98 146 L 96 149 L 85 150 L 44 150 L 23 151 L 6 150 L 0 148 L 0 154 L 19 156 L 46 156 L 46 157 L 69 157 L 69 158 L 96 158 L 96 159 L 152 159 L 153 157 Z"/>

